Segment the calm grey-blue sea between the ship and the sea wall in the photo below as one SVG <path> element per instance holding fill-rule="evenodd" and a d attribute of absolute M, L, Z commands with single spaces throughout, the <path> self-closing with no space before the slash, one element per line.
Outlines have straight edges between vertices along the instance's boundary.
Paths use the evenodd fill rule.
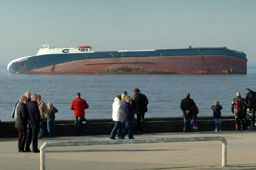
<path fill-rule="evenodd" d="M 14 104 L 29 90 L 40 93 L 42 101 L 59 110 L 56 119 L 73 119 L 70 104 L 81 93 L 88 104 L 86 118 L 111 118 L 112 103 L 123 90 L 133 96 L 138 87 L 148 97 L 146 117 L 182 116 L 180 100 L 189 92 L 199 108 L 198 116 L 212 115 L 210 107 L 219 100 L 222 115 L 231 115 L 231 102 L 246 88 L 256 90 L 256 67 L 248 68 L 248 74 L 10 74 L 6 66 L 0 66 L 0 119 L 10 117 Z"/>

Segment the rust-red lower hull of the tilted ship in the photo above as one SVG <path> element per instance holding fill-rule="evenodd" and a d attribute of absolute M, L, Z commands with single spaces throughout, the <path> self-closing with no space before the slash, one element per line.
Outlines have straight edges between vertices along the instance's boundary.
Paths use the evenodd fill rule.
<path fill-rule="evenodd" d="M 229 55 L 85 59 L 30 70 L 41 74 L 246 74 L 247 60 Z"/>

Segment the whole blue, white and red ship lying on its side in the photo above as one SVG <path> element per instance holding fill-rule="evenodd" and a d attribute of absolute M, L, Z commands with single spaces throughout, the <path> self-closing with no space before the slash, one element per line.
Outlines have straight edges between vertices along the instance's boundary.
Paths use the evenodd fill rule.
<path fill-rule="evenodd" d="M 246 74 L 246 54 L 226 47 L 91 51 L 90 46 L 51 48 L 11 61 L 10 73 Z"/>

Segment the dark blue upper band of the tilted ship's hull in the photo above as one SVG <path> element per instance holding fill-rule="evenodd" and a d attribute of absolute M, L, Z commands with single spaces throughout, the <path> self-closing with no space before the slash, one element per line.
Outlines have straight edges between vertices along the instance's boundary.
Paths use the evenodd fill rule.
<path fill-rule="evenodd" d="M 244 53 L 223 48 L 193 48 L 193 49 L 166 49 L 155 51 L 104 51 L 94 53 L 65 53 L 50 54 L 30 57 L 22 62 L 13 63 L 9 72 L 27 72 L 37 68 L 51 66 L 70 61 L 99 58 L 119 58 L 119 57 L 165 57 L 165 56 L 189 56 L 189 55 L 228 55 L 246 59 Z"/>

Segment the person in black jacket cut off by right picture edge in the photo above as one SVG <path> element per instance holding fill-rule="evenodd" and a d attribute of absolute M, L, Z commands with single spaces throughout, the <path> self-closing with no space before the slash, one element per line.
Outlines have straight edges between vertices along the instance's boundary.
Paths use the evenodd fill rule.
<path fill-rule="evenodd" d="M 255 112 L 256 112 L 256 92 L 250 90 L 250 88 L 246 88 L 245 94 L 247 107 L 252 112 L 252 126 L 255 126 Z"/>

